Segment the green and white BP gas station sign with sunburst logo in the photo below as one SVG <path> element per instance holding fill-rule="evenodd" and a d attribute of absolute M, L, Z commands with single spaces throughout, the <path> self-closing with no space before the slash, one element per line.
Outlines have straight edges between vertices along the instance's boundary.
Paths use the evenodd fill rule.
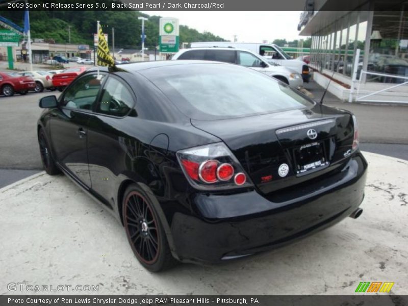
<path fill-rule="evenodd" d="M 159 45 L 160 52 L 179 52 L 179 19 L 160 18 Z"/>

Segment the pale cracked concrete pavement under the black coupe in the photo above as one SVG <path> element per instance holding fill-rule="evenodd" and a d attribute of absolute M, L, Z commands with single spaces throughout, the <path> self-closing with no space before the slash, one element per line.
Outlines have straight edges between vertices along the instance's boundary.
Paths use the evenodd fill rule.
<path fill-rule="evenodd" d="M 99 284 L 94 294 L 352 295 L 360 282 L 394 282 L 391 294 L 404 295 L 408 162 L 364 155 L 369 172 L 359 219 L 258 256 L 159 274 L 141 267 L 104 208 L 67 177 L 41 172 L 0 189 L 0 294 L 33 294 L 7 290 L 24 282 Z"/>

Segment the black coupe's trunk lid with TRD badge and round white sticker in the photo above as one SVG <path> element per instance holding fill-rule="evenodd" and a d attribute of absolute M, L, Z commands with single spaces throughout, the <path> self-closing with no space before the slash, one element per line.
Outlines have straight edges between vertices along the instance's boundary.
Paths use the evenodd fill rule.
<path fill-rule="evenodd" d="M 220 138 L 265 194 L 315 179 L 345 163 L 354 134 L 349 113 L 320 105 L 191 123 Z M 308 136 L 309 130 L 316 138 Z"/>

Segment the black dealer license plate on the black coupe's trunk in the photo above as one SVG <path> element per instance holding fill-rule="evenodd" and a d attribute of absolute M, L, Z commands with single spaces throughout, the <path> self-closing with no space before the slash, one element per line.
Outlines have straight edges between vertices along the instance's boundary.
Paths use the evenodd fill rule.
<path fill-rule="evenodd" d="M 312 142 L 294 149 L 296 173 L 304 173 L 328 165 L 324 143 Z"/>

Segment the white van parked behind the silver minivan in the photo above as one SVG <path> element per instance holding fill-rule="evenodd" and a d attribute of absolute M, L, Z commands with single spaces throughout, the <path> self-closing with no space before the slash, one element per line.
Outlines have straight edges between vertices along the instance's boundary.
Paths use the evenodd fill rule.
<path fill-rule="evenodd" d="M 202 47 L 223 47 L 223 48 L 241 48 L 252 51 L 267 59 L 273 60 L 275 63 L 288 67 L 300 73 L 303 82 L 308 83 L 311 74 L 309 66 L 303 61 L 295 60 L 285 53 L 279 46 L 270 43 L 249 43 L 249 42 L 231 42 L 231 41 L 206 41 L 206 42 L 192 42 L 192 48 Z"/>

